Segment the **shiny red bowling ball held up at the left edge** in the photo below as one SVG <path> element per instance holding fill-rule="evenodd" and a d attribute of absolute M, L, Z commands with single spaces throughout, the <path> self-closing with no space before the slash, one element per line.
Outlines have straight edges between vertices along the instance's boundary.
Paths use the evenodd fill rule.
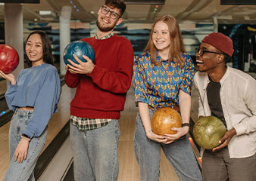
<path fill-rule="evenodd" d="M 0 44 L 0 70 L 11 73 L 19 64 L 19 54 L 8 44 Z"/>

